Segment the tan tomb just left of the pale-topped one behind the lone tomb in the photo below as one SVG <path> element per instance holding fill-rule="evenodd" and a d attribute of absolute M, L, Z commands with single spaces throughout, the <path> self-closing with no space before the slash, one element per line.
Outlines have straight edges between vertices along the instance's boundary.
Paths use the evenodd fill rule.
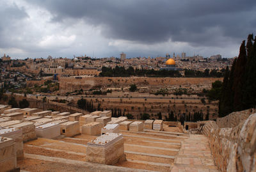
<path fill-rule="evenodd" d="M 103 123 L 99 122 L 92 122 L 92 123 L 86 123 L 82 126 L 82 134 L 88 134 L 93 136 L 100 135 L 100 130 L 103 127 Z"/>

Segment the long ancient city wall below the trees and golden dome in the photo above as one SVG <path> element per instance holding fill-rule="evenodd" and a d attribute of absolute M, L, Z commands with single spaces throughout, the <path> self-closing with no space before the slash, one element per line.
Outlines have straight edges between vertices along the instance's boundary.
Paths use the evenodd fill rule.
<path fill-rule="evenodd" d="M 212 82 L 222 81 L 222 78 L 184 78 L 184 77 L 60 77 L 60 91 L 72 92 L 81 88 L 90 89 L 93 86 L 100 88 L 127 87 L 131 84 L 137 86 L 151 86 L 166 88 L 180 86 L 183 88 L 191 86 L 211 87 Z"/>

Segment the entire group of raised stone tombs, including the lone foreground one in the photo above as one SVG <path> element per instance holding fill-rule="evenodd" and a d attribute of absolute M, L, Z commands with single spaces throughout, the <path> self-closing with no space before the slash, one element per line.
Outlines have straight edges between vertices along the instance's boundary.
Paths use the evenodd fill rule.
<path fill-rule="evenodd" d="M 58 139 L 78 134 L 99 136 L 88 142 L 88 162 L 115 164 L 124 160 L 124 139 L 120 130 L 143 132 L 163 130 L 163 120 L 129 121 L 125 116 L 111 118 L 111 111 L 90 114 L 11 108 L 0 105 L 0 169 L 17 169 L 24 158 L 23 143 L 43 137 Z"/>

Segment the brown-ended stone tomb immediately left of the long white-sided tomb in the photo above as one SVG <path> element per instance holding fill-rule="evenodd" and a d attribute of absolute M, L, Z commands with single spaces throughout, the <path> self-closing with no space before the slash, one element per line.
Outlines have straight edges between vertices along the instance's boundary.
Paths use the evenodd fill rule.
<path fill-rule="evenodd" d="M 33 122 L 22 122 L 15 125 L 11 125 L 8 128 L 21 129 L 23 142 L 36 139 L 35 125 Z"/>

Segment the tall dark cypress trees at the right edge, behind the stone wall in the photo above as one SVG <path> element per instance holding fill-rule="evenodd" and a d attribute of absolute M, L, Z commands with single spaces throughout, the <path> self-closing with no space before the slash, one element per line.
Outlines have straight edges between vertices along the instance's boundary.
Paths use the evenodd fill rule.
<path fill-rule="evenodd" d="M 241 43 L 231 69 L 227 67 L 220 95 L 220 116 L 256 106 L 256 37 L 252 34 Z"/>

